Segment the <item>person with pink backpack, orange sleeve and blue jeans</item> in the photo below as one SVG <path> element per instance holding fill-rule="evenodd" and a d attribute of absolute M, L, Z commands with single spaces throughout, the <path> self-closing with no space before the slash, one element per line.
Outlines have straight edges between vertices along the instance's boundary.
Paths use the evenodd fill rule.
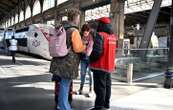
<path fill-rule="evenodd" d="M 68 102 L 69 88 L 71 81 L 78 77 L 79 53 L 85 50 L 77 28 L 80 22 L 80 11 L 69 9 L 67 17 L 68 22 L 56 27 L 55 37 L 57 38 L 50 38 L 49 45 L 50 54 L 53 56 L 50 72 L 59 77 L 58 105 L 60 110 L 71 110 Z"/>

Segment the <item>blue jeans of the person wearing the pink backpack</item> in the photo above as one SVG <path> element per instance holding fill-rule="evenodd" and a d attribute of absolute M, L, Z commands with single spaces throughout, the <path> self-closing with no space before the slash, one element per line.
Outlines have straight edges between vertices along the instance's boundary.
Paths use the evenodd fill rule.
<path fill-rule="evenodd" d="M 60 107 L 60 110 L 71 110 L 71 107 L 68 101 L 70 83 L 71 83 L 71 80 L 69 79 L 62 78 L 60 81 L 60 91 L 59 91 L 59 97 L 58 97 L 58 105 Z"/>

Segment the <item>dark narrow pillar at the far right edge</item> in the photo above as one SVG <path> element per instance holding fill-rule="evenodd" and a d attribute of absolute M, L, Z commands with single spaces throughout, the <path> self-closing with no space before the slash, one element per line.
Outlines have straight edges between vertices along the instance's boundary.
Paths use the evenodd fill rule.
<path fill-rule="evenodd" d="M 172 0 L 173 1 L 173 0 Z M 173 3 L 172 3 L 173 6 Z M 165 73 L 164 88 L 173 88 L 173 7 L 171 7 L 170 16 L 170 41 L 168 53 L 168 68 Z"/>

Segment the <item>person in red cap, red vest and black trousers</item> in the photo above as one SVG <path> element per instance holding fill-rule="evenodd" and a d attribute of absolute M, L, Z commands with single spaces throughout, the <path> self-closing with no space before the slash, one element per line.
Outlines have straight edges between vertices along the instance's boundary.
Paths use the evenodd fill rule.
<path fill-rule="evenodd" d="M 96 94 L 94 108 L 90 110 L 105 110 L 110 108 L 111 73 L 115 69 L 116 36 L 113 34 L 111 20 L 108 17 L 97 19 L 97 32 L 104 39 L 102 56 L 90 64 L 94 78 Z"/>

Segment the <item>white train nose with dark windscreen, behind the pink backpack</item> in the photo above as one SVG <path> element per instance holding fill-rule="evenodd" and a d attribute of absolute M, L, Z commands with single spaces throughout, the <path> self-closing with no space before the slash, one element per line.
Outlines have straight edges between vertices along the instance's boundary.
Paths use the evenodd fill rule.
<path fill-rule="evenodd" d="M 53 35 L 53 28 L 52 25 L 47 24 L 32 24 L 16 30 L 14 36 L 18 40 L 18 50 L 51 59 L 49 37 Z"/>

